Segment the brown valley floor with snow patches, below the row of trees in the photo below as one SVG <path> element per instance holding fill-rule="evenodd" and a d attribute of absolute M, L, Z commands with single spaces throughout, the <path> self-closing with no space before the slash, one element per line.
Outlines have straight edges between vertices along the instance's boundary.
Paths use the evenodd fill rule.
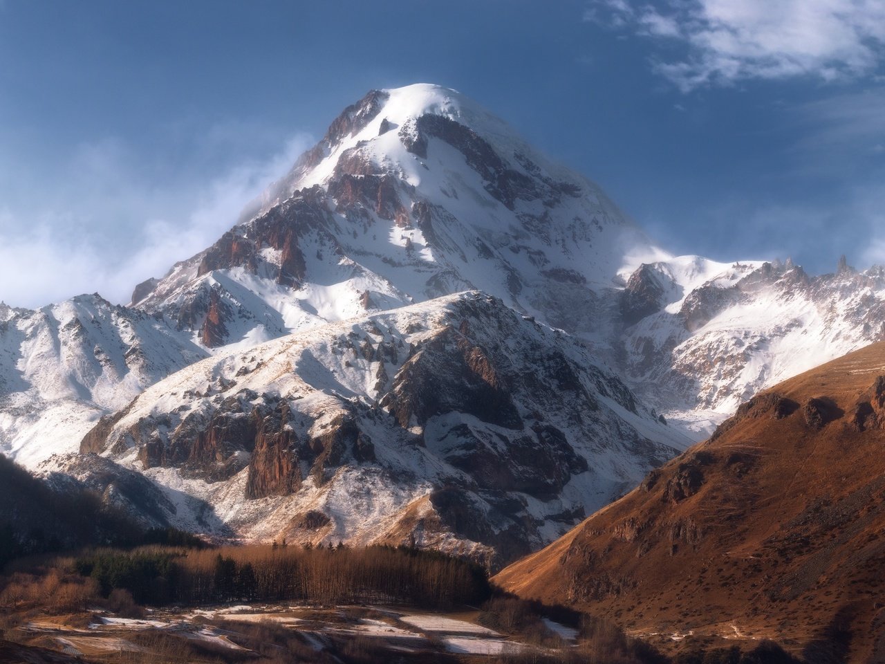
<path fill-rule="evenodd" d="M 423 613 L 404 606 L 240 605 L 154 610 L 141 618 L 104 611 L 33 617 L 4 629 L 0 662 L 56 661 L 53 651 L 89 662 L 405 661 L 458 662 L 528 654 L 538 647 L 476 622 L 478 611 Z M 558 645 L 577 630 L 549 623 Z M 14 643 L 12 643 L 14 642 Z M 18 645 L 15 645 L 18 644 Z M 550 652 L 550 645 L 543 648 Z M 18 654 L 17 654 L 18 653 Z M 42 658 L 42 659 L 41 659 Z M 71 661 L 73 661 L 72 659 Z M 58 661 L 65 661 L 64 659 Z"/>

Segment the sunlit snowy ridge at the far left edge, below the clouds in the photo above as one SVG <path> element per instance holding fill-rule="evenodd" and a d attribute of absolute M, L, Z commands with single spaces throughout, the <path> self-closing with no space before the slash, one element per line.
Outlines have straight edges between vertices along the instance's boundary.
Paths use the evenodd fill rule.
<path fill-rule="evenodd" d="M 99 416 L 207 352 L 97 295 L 0 311 L 0 451 L 28 467 L 78 449 Z"/>

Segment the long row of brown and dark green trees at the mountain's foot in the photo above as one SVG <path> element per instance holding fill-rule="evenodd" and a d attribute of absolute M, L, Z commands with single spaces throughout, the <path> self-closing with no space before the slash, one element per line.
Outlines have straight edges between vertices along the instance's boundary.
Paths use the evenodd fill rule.
<path fill-rule="evenodd" d="M 91 552 L 74 567 L 105 594 L 125 588 L 136 601 L 153 605 L 289 600 L 445 607 L 479 604 L 491 594 L 482 567 L 406 547 L 151 546 Z"/>

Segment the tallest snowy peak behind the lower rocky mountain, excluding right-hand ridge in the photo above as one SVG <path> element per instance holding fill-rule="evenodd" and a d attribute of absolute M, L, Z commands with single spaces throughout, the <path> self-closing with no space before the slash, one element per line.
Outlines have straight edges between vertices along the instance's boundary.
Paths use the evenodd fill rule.
<path fill-rule="evenodd" d="M 594 336 L 594 291 L 627 251 L 660 255 L 595 184 L 427 83 L 350 104 L 253 210 L 134 302 L 213 347 L 461 290 Z"/>

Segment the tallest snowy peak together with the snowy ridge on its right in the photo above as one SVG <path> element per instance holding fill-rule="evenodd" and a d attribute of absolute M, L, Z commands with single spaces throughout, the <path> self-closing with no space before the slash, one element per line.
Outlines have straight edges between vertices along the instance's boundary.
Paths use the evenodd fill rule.
<path fill-rule="evenodd" d="M 878 268 L 810 279 L 668 254 L 593 182 L 438 86 L 370 92 L 255 207 L 135 305 L 206 347 L 246 347 L 483 290 L 590 344 L 696 438 L 767 385 L 881 338 L 865 313 L 885 299 Z"/>

